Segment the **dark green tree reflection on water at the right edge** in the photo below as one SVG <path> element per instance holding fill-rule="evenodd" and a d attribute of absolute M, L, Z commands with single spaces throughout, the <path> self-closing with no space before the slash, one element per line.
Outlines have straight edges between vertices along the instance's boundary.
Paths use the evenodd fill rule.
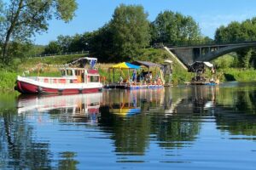
<path fill-rule="evenodd" d="M 242 86 L 221 88 L 217 98 L 215 118 L 217 128 L 222 132 L 248 137 L 232 139 L 253 139 L 256 135 L 256 88 Z"/>

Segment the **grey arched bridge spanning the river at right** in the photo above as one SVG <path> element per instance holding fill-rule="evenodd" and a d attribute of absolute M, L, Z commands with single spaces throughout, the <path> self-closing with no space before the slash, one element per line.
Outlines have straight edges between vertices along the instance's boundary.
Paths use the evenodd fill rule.
<path fill-rule="evenodd" d="M 195 61 L 210 61 L 221 55 L 236 52 L 241 48 L 256 47 L 254 42 L 233 42 L 222 44 L 189 44 L 183 46 L 165 45 L 166 50 L 177 57 L 183 65 L 189 65 Z"/>

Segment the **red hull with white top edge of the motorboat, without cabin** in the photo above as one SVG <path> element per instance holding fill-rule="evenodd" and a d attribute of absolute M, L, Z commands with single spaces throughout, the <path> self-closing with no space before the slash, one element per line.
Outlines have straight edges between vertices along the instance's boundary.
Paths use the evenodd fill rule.
<path fill-rule="evenodd" d="M 21 94 L 90 94 L 101 91 L 102 87 L 63 88 L 60 84 L 59 88 L 49 88 L 17 80 L 15 90 L 19 91 Z"/>

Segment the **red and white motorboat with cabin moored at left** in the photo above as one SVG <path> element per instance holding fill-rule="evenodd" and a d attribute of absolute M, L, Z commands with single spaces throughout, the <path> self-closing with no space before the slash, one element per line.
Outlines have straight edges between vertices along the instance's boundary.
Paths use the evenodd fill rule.
<path fill-rule="evenodd" d="M 102 90 L 96 58 L 85 57 L 90 69 L 61 68 L 61 77 L 17 77 L 15 90 L 21 94 L 87 94 Z M 82 60 L 79 59 L 79 60 Z"/>

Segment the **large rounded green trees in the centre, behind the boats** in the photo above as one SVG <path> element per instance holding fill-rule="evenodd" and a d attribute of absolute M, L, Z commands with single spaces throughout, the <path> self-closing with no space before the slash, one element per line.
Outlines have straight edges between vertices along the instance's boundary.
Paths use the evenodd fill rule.
<path fill-rule="evenodd" d="M 73 37 L 59 36 L 49 42 L 44 54 L 89 50 L 100 61 L 113 62 L 136 59 L 139 49 L 156 42 L 175 44 L 201 38 L 200 28 L 190 16 L 165 11 L 150 22 L 143 6 L 121 4 L 100 29 Z"/>

